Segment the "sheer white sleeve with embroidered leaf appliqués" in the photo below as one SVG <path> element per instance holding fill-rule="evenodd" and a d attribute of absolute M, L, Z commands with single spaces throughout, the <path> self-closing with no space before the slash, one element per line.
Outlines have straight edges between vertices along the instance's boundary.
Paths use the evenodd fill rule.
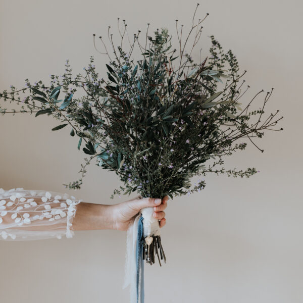
<path fill-rule="evenodd" d="M 81 201 L 54 191 L 0 188 L 0 240 L 72 238 Z"/>

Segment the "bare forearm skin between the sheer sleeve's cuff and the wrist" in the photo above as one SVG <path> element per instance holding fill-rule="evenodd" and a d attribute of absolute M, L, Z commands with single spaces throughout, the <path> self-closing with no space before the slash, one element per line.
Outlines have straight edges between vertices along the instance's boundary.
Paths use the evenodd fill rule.
<path fill-rule="evenodd" d="M 73 230 L 114 229 L 112 205 L 81 202 L 73 219 Z"/>

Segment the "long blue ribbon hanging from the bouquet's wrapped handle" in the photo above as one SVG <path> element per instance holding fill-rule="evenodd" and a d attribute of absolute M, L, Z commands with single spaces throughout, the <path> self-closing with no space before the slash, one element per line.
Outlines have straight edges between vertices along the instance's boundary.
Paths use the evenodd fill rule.
<path fill-rule="evenodd" d="M 143 254 L 143 217 L 141 216 L 138 222 L 138 236 L 136 244 L 136 265 L 137 265 L 137 303 L 144 303 L 144 261 Z M 141 273 L 141 275 L 140 275 Z M 139 301 L 140 294 L 140 301 Z"/>

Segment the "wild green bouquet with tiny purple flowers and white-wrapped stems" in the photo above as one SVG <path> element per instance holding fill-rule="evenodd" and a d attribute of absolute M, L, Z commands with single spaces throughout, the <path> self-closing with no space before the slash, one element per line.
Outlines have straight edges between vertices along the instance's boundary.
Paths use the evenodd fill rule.
<path fill-rule="evenodd" d="M 51 75 L 48 85 L 26 79 L 25 88 L 11 86 L 11 91 L 0 91 L 1 99 L 21 106 L 19 110 L 0 107 L 0 112 L 52 116 L 60 122 L 53 131 L 66 127 L 71 136 L 79 138 L 77 148 L 82 147 L 87 156 L 80 178 L 64 184 L 69 189 L 80 188 L 93 159 L 96 165 L 115 171 L 122 182 L 113 195 L 137 191 L 143 197 L 173 198 L 206 186 L 204 178 L 192 186 L 193 176 L 256 174 L 254 167 L 226 169 L 224 159 L 245 149 L 246 142 L 263 152 L 255 138 L 262 138 L 265 130 L 282 129 L 274 128 L 282 119 L 277 117 L 278 110 L 265 115 L 273 89 L 259 91 L 242 106 L 239 101 L 249 88 L 244 88 L 242 80 L 246 71 L 239 72 L 233 52 L 224 52 L 214 36 L 209 54 L 200 51 L 198 60 L 192 58 L 206 18 L 196 20 L 196 11 L 187 35 L 176 20 L 174 43 L 166 28 L 149 35 L 149 24 L 143 37 L 139 30 L 130 38 L 125 20 L 118 18 L 119 40 L 114 40 L 111 27 L 109 45 L 104 37 L 93 35 L 95 49 L 108 56 L 107 77 L 99 77 L 93 57 L 83 74 L 73 77 L 67 60 L 65 73 Z M 190 46 L 189 40 L 193 41 Z M 133 58 L 136 52 L 140 55 Z M 21 93 L 28 94 L 22 99 Z M 252 109 L 262 94 L 263 105 Z M 159 262 L 159 255 L 165 259 L 159 222 L 153 222 L 151 214 L 142 211 L 143 218 L 138 216 L 133 226 L 138 234 L 132 241 L 140 247 L 137 264 L 141 256 L 149 264 L 155 263 L 155 254 Z M 136 287 L 139 300 L 138 279 Z"/>

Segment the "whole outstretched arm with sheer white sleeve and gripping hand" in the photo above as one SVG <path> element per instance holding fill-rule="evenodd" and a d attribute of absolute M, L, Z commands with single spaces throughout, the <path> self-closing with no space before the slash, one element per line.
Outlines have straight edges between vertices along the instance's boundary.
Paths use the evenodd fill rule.
<path fill-rule="evenodd" d="M 0 239 L 34 240 L 71 238 L 74 230 L 127 230 L 141 208 L 156 206 L 153 198 L 140 196 L 116 205 L 84 203 L 68 194 L 0 188 Z M 160 226 L 165 224 L 167 197 L 155 208 Z"/>

